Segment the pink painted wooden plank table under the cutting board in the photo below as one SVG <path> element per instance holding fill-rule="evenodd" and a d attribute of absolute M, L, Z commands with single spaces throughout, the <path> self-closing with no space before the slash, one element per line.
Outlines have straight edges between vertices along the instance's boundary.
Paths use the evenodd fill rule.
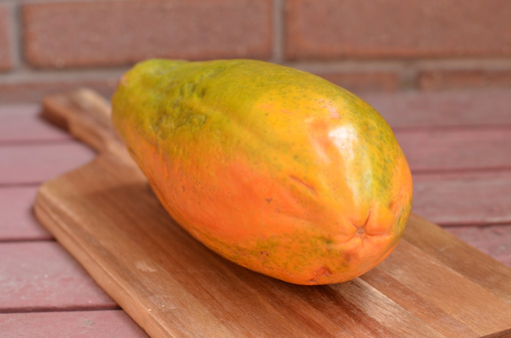
<path fill-rule="evenodd" d="M 407 155 L 413 210 L 509 267 L 510 94 L 364 96 Z M 0 337 L 146 336 L 32 215 L 41 182 L 94 156 L 38 113 L 0 105 Z"/>

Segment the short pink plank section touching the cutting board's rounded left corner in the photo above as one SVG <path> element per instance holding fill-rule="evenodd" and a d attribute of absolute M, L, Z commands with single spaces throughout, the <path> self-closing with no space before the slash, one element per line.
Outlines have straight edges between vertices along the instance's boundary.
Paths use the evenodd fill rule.
<path fill-rule="evenodd" d="M 33 214 L 36 190 L 36 187 L 0 188 L 0 242 L 52 238 Z"/>

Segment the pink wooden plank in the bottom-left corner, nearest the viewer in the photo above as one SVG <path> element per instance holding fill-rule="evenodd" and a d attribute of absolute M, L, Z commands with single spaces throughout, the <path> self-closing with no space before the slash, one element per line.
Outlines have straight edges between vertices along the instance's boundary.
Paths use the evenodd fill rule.
<path fill-rule="evenodd" d="M 1 337 L 143 338 L 122 310 L 0 313 Z"/>

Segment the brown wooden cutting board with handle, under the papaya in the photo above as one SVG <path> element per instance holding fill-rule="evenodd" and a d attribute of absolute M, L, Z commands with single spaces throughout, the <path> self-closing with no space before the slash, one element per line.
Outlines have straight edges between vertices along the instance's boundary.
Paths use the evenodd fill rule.
<path fill-rule="evenodd" d="M 511 334 L 511 269 L 417 215 L 398 248 L 363 276 L 289 284 L 221 258 L 182 230 L 114 136 L 98 94 L 49 96 L 43 106 L 98 156 L 44 183 L 36 215 L 151 336 Z"/>

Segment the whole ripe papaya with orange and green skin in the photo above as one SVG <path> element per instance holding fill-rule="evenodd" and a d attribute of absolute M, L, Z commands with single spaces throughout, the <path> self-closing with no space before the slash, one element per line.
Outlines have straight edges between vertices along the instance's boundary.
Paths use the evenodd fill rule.
<path fill-rule="evenodd" d="M 412 179 L 384 119 L 349 91 L 254 60 L 148 60 L 112 119 L 172 217 L 288 282 L 351 280 L 398 244 Z"/>

